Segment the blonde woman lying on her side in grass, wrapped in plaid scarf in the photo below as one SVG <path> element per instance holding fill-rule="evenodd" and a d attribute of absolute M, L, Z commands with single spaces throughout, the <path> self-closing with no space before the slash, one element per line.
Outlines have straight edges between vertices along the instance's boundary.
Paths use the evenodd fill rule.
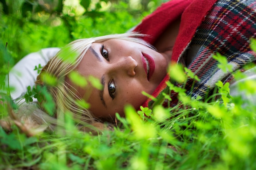
<path fill-rule="evenodd" d="M 135 109 L 152 106 L 153 101 L 141 92 L 157 97 L 170 79 L 167 73 L 170 63 L 182 64 L 198 76 L 200 81 L 195 82 L 192 89 L 193 81 L 188 79 L 186 93 L 204 99 L 207 93 L 213 93 L 216 82 L 226 83 L 232 79 L 230 72 L 224 73 L 218 68 L 214 54 L 226 56 L 233 71 L 256 60 L 256 53 L 249 46 L 256 36 L 255 12 L 255 0 L 172 0 L 144 18 L 133 32 L 75 40 L 62 49 L 32 53 L 29 56 L 39 56 L 40 60 L 25 57 L 20 61 L 32 62 L 30 70 L 22 71 L 23 76 L 30 78 L 15 78 L 14 71 L 10 73 L 10 77 L 14 77 L 10 78 L 10 84 L 16 87 L 11 96 L 18 98 L 36 79 L 36 89 L 45 89 L 52 96 L 54 107 L 45 108 L 47 97 L 39 97 L 36 109 L 33 105 L 26 106 L 20 112 L 30 112 L 29 116 L 19 119 L 30 126 L 46 124 L 44 127 L 53 130 L 56 118 L 72 114 L 77 123 L 101 129 L 102 122 L 115 121 L 116 113 L 125 116 L 127 104 Z M 49 60 L 51 55 L 47 55 L 44 61 L 42 52 L 54 56 Z M 13 69 L 21 70 L 20 63 Z M 33 68 L 38 64 L 45 66 L 37 76 Z M 254 70 L 255 67 L 245 74 L 255 79 Z M 46 75 L 55 77 L 55 83 L 47 82 Z M 79 75 L 80 81 L 74 81 L 74 75 Z M 84 79 L 92 77 L 100 86 L 93 81 L 85 83 Z M 238 95 L 236 82 L 230 88 L 231 95 Z M 175 106 L 178 99 L 171 96 L 169 106 Z M 81 100 L 90 106 L 81 104 Z M 9 121 L 2 120 L 1 125 L 8 129 Z M 82 130 L 90 131 L 90 128 Z"/>

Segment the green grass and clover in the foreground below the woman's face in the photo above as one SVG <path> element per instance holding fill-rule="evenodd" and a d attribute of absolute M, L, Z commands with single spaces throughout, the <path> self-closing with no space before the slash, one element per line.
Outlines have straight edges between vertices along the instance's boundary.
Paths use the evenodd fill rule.
<path fill-rule="evenodd" d="M 241 102 L 191 100 L 186 110 L 156 106 L 144 120 L 127 106 L 126 118 L 119 118 L 122 128 L 101 135 L 79 132 L 68 123 L 66 134 L 30 138 L 15 126 L 9 134 L 0 128 L 0 168 L 255 169 L 256 108 L 242 108 Z"/>

